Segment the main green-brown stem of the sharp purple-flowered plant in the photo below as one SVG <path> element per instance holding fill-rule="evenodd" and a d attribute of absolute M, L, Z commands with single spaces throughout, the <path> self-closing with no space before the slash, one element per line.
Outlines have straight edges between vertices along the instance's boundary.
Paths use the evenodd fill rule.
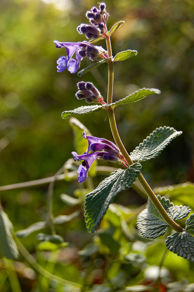
<path fill-rule="evenodd" d="M 111 51 L 111 41 L 110 37 L 106 38 L 106 46 L 107 46 L 107 51 L 108 51 L 108 58 L 112 56 L 112 51 Z M 112 96 L 113 96 L 113 60 L 109 60 L 108 62 L 109 66 L 109 81 L 108 81 L 108 93 L 107 93 L 107 103 L 112 103 Z M 120 149 L 120 152 L 123 154 L 125 160 L 127 161 L 127 164 L 130 166 L 133 164 L 133 161 L 131 157 L 129 156 L 127 150 L 125 149 L 122 141 L 120 140 L 120 136 L 117 130 L 116 126 L 116 121 L 115 121 L 115 115 L 114 115 L 114 110 L 113 108 L 109 107 L 108 108 L 108 114 L 109 114 L 109 122 L 111 126 L 111 131 L 113 134 L 113 138 L 116 142 L 116 145 Z M 170 227 L 172 227 L 174 230 L 177 232 L 183 232 L 183 228 L 181 228 L 178 224 L 176 224 L 167 214 L 163 206 L 160 204 L 160 201 L 158 198 L 155 196 L 154 192 L 152 191 L 151 187 L 148 185 L 146 180 L 144 179 L 143 175 L 139 173 L 138 176 L 139 183 L 141 186 L 144 188 L 146 191 L 148 197 L 151 199 L 152 203 L 162 216 L 162 218 L 168 223 Z"/>

